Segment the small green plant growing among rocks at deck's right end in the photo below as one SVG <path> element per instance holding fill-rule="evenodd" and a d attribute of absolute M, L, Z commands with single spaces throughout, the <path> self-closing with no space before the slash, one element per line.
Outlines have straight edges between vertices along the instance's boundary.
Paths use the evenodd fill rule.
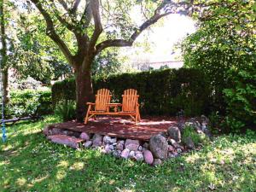
<path fill-rule="evenodd" d="M 200 144 L 206 145 L 210 142 L 209 137 L 205 134 L 198 134 L 195 131 L 195 128 L 192 126 L 185 126 L 182 132 L 182 142 L 185 143 L 185 140 L 190 137 L 195 144 L 195 146 L 199 146 Z"/>

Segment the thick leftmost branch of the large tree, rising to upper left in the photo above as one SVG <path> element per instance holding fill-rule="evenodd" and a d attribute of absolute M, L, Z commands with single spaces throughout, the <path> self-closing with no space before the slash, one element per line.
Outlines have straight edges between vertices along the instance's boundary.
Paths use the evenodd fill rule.
<path fill-rule="evenodd" d="M 43 8 L 42 3 L 40 0 L 31 0 L 32 3 L 35 4 L 35 6 L 38 8 L 40 13 L 44 16 L 44 20 L 46 21 L 46 34 L 51 38 L 55 44 L 59 46 L 62 53 L 66 56 L 67 61 L 73 65 L 73 55 L 71 54 L 70 50 L 67 48 L 67 44 L 62 41 L 62 39 L 59 37 L 59 35 L 55 32 L 55 26 L 53 21 L 51 20 L 51 17 L 49 13 Z"/>

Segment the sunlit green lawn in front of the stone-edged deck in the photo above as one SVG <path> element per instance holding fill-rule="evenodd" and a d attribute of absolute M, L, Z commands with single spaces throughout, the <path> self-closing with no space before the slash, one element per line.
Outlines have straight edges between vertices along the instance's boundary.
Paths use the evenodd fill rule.
<path fill-rule="evenodd" d="M 49 143 L 46 124 L 8 127 L 0 144 L 0 191 L 256 191 L 256 134 L 221 136 L 200 151 L 151 167 L 96 150 Z"/>

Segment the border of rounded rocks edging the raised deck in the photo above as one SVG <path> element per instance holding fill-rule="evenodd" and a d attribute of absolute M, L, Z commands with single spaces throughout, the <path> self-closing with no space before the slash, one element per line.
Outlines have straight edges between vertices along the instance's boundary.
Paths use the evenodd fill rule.
<path fill-rule="evenodd" d="M 157 166 L 163 160 L 175 158 L 188 150 L 195 148 L 191 137 L 182 141 L 182 132 L 188 125 L 198 134 L 210 136 L 207 130 L 208 119 L 189 119 L 178 122 L 177 126 L 170 126 L 167 131 L 160 132 L 149 141 L 131 138 L 110 137 L 99 133 L 70 131 L 49 125 L 44 128 L 44 135 L 53 143 L 64 144 L 72 148 L 96 148 L 102 154 L 112 154 L 116 158 L 144 161 L 148 165 Z"/>

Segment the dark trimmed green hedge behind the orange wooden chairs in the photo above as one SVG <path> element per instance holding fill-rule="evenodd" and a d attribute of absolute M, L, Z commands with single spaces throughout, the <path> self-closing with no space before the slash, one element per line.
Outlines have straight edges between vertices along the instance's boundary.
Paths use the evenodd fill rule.
<path fill-rule="evenodd" d="M 125 89 L 137 89 L 144 114 L 176 115 L 181 109 L 188 116 L 207 113 L 211 108 L 211 90 L 207 77 L 197 69 L 166 69 L 143 73 L 123 73 L 108 79 L 94 79 L 93 88 L 111 90 L 113 102 L 121 102 Z M 75 100 L 74 79 L 52 86 L 53 103 Z"/>

